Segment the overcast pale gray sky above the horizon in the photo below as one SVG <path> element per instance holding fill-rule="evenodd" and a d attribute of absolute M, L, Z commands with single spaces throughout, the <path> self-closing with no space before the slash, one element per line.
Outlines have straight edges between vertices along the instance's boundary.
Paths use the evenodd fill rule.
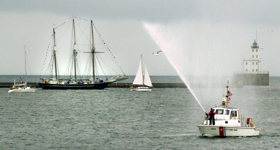
<path fill-rule="evenodd" d="M 250 58 L 258 31 L 264 49 L 260 71 L 279 76 L 279 6 L 280 1 L 1 1 L 0 74 L 23 74 L 25 45 L 31 73 L 39 75 L 53 22 L 74 15 L 92 18 L 127 75 L 136 74 L 140 54 L 150 75 L 177 75 L 167 57 L 189 70 L 184 74 L 242 71 L 241 58 Z M 160 46 L 147 24 L 168 43 L 164 55 L 152 55 Z"/>

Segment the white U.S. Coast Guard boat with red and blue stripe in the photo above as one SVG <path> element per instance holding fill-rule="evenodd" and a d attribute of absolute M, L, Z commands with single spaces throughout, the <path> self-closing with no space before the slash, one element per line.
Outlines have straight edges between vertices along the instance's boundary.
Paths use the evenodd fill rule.
<path fill-rule="evenodd" d="M 230 96 L 228 90 L 227 95 L 222 99 L 222 104 L 219 107 L 213 108 L 215 125 L 209 125 L 209 116 L 206 114 L 202 125 L 197 125 L 202 136 L 259 136 L 260 129 L 253 125 L 252 118 L 245 118 L 239 114 L 238 108 L 227 107 Z"/>

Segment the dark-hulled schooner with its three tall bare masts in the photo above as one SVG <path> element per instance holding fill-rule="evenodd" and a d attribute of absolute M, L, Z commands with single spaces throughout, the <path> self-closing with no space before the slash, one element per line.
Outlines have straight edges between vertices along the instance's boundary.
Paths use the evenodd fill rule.
<path fill-rule="evenodd" d="M 76 18 L 76 17 L 75 17 Z M 93 23 L 91 20 L 91 28 L 90 28 L 90 51 L 83 52 L 83 53 L 88 53 L 89 58 L 88 58 L 88 72 L 89 75 L 86 75 L 86 77 L 80 76 L 78 77 L 78 49 L 77 49 L 77 38 L 76 38 L 76 30 L 75 30 L 75 22 L 74 22 L 74 17 L 72 18 L 72 39 L 73 41 L 73 49 L 72 49 L 72 55 L 71 58 L 69 59 L 69 64 L 71 64 L 71 71 L 70 75 L 68 75 L 67 78 L 61 77 L 59 74 L 59 66 L 58 66 L 58 59 L 57 59 L 57 43 L 56 43 L 56 37 L 55 37 L 55 28 L 53 28 L 53 46 L 52 46 L 52 57 L 50 61 L 50 71 L 49 71 L 49 77 L 41 77 L 40 79 L 42 80 L 38 85 L 43 88 L 43 89 L 104 89 L 109 83 L 121 81 L 124 79 L 128 79 L 128 77 L 125 76 L 123 73 L 122 76 L 118 75 L 117 77 L 112 77 L 111 79 L 101 79 L 99 78 L 100 76 L 97 75 L 97 62 L 100 64 L 101 61 L 96 60 L 98 59 L 95 57 L 98 53 L 104 53 L 104 52 L 97 52 L 95 48 L 95 41 L 94 41 L 94 34 L 93 34 Z M 96 29 L 96 28 L 95 28 Z M 99 34 L 100 36 L 100 34 Z M 102 40 L 103 41 L 103 40 Z M 103 41 L 104 42 L 104 41 Z M 104 43 L 105 44 L 105 43 Z M 108 48 L 108 47 L 107 47 Z M 110 51 L 110 50 L 109 50 Z M 101 58 L 101 57 L 99 57 Z M 112 57 L 113 58 L 113 57 Z M 70 63 L 71 60 L 71 63 Z M 103 61 L 104 62 L 104 61 Z M 104 67 L 104 66 L 103 66 Z M 111 68 L 111 67 L 109 67 Z M 54 69 L 54 71 L 53 71 Z M 92 71 L 91 71 L 92 69 Z M 102 66 L 101 66 L 102 69 Z M 104 71 L 102 70 L 104 73 Z M 115 71 L 116 72 L 116 71 Z M 67 76 L 67 75 L 65 75 Z M 105 75 L 104 75 L 105 76 Z M 66 81 L 66 82 L 65 82 Z"/>

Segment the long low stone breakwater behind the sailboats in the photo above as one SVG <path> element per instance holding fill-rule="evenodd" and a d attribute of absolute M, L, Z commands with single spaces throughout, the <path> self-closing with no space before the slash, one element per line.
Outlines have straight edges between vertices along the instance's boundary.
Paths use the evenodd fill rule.
<path fill-rule="evenodd" d="M 37 83 L 28 83 L 31 87 L 39 88 Z M 14 83 L 0 83 L 0 88 L 10 88 Z M 132 83 L 110 83 L 107 88 L 129 88 Z M 186 88 L 184 83 L 153 83 L 154 88 Z"/>

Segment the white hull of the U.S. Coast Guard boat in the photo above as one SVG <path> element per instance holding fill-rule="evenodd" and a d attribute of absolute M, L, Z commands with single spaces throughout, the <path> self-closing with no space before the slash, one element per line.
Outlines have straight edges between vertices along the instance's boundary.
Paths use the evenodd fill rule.
<path fill-rule="evenodd" d="M 202 136 L 259 136 L 260 129 L 255 127 L 197 125 Z"/>

